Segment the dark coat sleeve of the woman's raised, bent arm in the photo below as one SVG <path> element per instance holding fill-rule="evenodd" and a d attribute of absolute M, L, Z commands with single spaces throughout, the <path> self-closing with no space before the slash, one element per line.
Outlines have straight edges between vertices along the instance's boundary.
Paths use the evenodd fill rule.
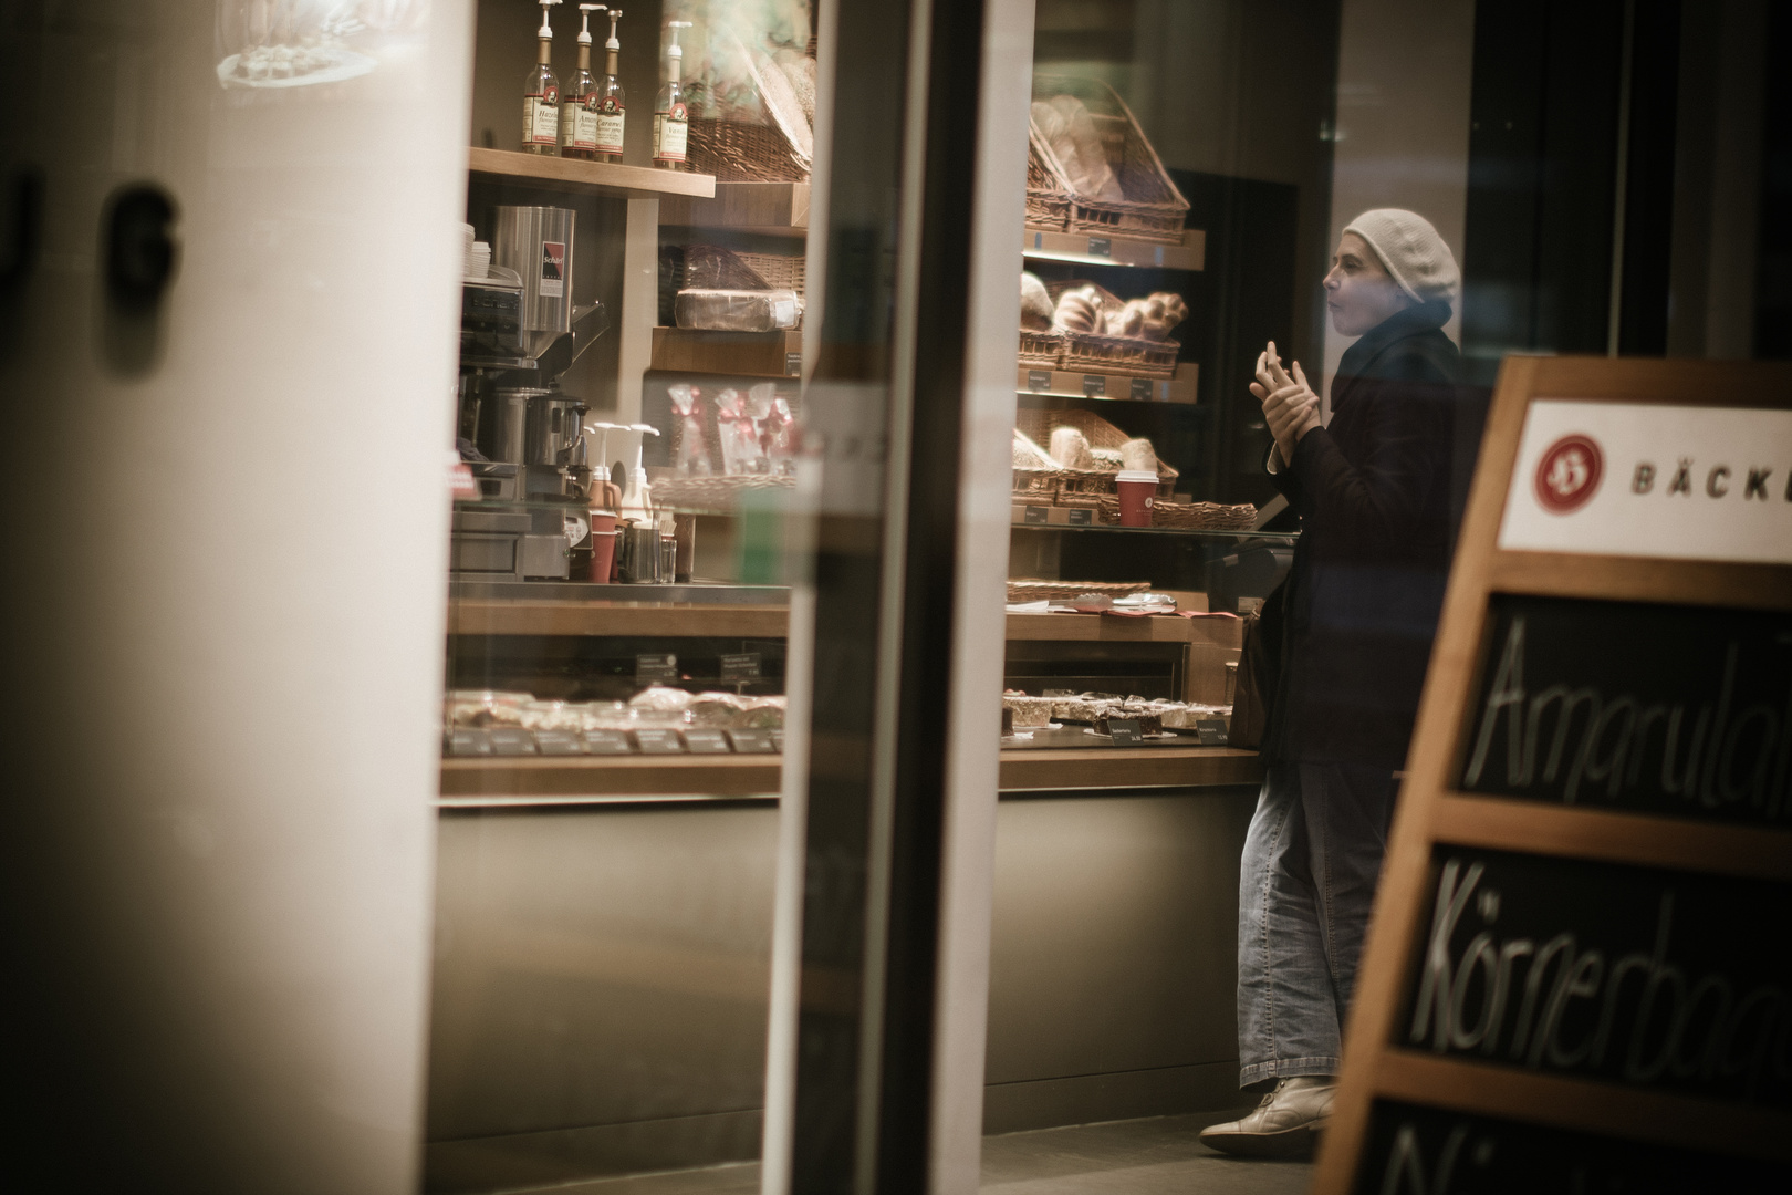
<path fill-rule="evenodd" d="M 1351 464 L 1326 428 L 1314 428 L 1294 446 L 1292 473 L 1310 527 L 1346 548 L 1400 548 L 1425 521 L 1450 451 L 1453 387 L 1434 369 L 1410 380 L 1378 382 L 1358 392 L 1367 450 Z M 1355 437 L 1353 437 L 1355 439 Z M 1278 486 L 1283 482 L 1278 480 Z"/>

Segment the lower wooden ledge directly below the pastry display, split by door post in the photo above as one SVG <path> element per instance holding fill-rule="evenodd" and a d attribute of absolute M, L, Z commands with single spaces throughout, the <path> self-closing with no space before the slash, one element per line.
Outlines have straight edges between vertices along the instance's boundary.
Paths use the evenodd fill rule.
<path fill-rule="evenodd" d="M 443 760 L 441 795 L 776 795 L 778 756 L 556 756 Z M 1263 765 L 1235 747 L 1066 747 L 1004 751 L 1002 792 L 1254 785 Z"/>

